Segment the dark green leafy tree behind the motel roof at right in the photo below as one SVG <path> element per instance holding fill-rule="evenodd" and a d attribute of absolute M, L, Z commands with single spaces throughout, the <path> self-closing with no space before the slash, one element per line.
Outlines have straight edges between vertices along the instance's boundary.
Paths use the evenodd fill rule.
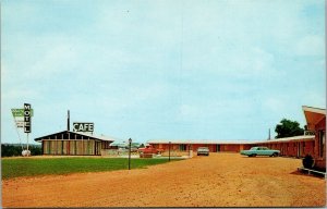
<path fill-rule="evenodd" d="M 304 134 L 304 130 L 300 127 L 300 123 L 288 119 L 282 119 L 280 124 L 276 125 L 275 132 L 276 138 L 300 136 Z"/>

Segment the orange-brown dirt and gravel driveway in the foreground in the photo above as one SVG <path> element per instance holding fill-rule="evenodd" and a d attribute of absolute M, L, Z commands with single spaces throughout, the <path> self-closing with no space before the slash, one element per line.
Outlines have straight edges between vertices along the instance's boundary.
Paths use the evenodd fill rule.
<path fill-rule="evenodd" d="M 141 170 L 2 181 L 3 207 L 322 207 L 326 181 L 301 160 L 239 153 Z"/>

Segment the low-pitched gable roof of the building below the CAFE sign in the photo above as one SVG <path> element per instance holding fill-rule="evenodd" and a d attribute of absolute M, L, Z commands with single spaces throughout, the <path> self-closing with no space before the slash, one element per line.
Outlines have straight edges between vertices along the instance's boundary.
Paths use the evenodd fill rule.
<path fill-rule="evenodd" d="M 58 133 L 53 133 L 53 134 L 49 134 L 49 135 L 46 135 L 46 136 L 41 136 L 41 137 L 38 137 L 38 138 L 35 138 L 34 140 L 35 142 L 39 142 L 39 140 L 43 140 L 43 139 L 49 139 L 49 138 L 55 138 L 56 136 L 58 137 L 61 137 L 63 134 L 70 134 L 71 136 L 71 139 L 75 139 L 75 136 L 83 136 L 88 138 L 88 139 L 98 139 L 98 140 L 106 140 L 106 142 L 113 142 L 114 138 L 111 138 L 111 137 L 107 137 L 107 136 L 96 136 L 96 135 L 92 135 L 92 134 L 85 134 L 85 133 L 80 133 L 80 132 L 71 132 L 71 131 L 63 131 L 63 132 L 58 132 Z M 66 138 L 68 139 L 68 138 Z"/>

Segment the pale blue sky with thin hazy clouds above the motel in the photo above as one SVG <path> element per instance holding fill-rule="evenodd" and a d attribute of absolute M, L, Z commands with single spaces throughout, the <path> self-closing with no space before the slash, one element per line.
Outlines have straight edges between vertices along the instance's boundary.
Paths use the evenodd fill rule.
<path fill-rule="evenodd" d="M 323 0 L 7 0 L 1 142 L 71 122 L 119 139 L 266 139 L 326 107 Z M 25 135 L 20 131 L 21 137 Z"/>

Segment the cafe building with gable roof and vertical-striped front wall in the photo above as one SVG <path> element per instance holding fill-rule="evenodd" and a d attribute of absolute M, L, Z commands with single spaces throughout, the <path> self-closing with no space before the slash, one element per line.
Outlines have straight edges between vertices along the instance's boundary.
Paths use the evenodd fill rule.
<path fill-rule="evenodd" d="M 34 139 L 40 142 L 44 155 L 58 156 L 100 156 L 101 149 L 113 142 L 105 136 L 63 131 Z"/>

